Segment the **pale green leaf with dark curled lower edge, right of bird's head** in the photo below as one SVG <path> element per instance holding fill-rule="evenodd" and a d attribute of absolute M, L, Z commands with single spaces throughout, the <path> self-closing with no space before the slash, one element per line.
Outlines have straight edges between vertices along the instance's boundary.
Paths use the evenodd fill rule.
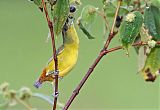
<path fill-rule="evenodd" d="M 97 17 L 97 8 L 91 5 L 87 5 L 83 8 L 81 16 L 78 19 L 79 28 L 83 33 L 89 38 L 93 39 L 94 37 L 90 34 L 90 29 Z"/>

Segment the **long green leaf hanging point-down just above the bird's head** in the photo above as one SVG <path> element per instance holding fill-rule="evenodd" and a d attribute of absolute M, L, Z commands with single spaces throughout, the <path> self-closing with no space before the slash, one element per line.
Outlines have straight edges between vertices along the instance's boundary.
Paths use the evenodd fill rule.
<path fill-rule="evenodd" d="M 57 0 L 57 3 L 52 11 L 54 32 L 56 36 L 62 32 L 62 28 L 67 20 L 68 14 L 69 0 Z"/>

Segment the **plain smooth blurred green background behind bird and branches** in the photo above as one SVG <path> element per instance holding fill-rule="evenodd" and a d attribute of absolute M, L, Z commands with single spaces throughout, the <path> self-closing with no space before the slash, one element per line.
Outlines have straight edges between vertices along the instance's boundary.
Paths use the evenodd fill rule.
<path fill-rule="evenodd" d="M 100 0 L 82 0 L 86 4 L 102 7 Z M 88 67 L 103 46 L 102 19 L 95 23 L 95 40 L 88 40 L 77 30 L 80 52 L 76 67 L 60 81 L 59 101 L 65 103 Z M 77 28 L 77 27 L 76 27 Z M 46 43 L 48 27 L 37 7 L 28 0 L 0 0 L 0 83 L 7 81 L 10 88 L 30 87 L 34 92 L 51 95 L 52 86 L 45 83 L 40 89 L 33 87 L 42 68 L 52 55 L 51 42 Z M 118 38 L 112 45 L 119 45 Z M 160 79 L 147 83 L 137 74 L 137 56 L 132 49 L 130 57 L 124 51 L 105 56 L 82 88 L 72 110 L 160 110 Z M 38 110 L 51 110 L 39 99 L 32 100 Z M 18 105 L 10 110 L 25 110 Z"/>

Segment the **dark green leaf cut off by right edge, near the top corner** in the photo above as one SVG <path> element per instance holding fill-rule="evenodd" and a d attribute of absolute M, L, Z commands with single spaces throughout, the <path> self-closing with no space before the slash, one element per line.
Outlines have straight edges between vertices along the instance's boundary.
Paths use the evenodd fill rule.
<path fill-rule="evenodd" d="M 160 40 L 160 9 L 151 5 L 145 9 L 144 24 L 154 40 Z"/>

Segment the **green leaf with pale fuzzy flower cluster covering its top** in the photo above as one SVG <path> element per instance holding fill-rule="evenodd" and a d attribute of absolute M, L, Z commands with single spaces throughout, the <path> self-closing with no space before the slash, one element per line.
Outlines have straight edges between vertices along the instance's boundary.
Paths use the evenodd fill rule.
<path fill-rule="evenodd" d="M 120 40 L 124 49 L 134 43 L 143 23 L 142 14 L 138 11 L 127 14 L 120 26 Z"/>

